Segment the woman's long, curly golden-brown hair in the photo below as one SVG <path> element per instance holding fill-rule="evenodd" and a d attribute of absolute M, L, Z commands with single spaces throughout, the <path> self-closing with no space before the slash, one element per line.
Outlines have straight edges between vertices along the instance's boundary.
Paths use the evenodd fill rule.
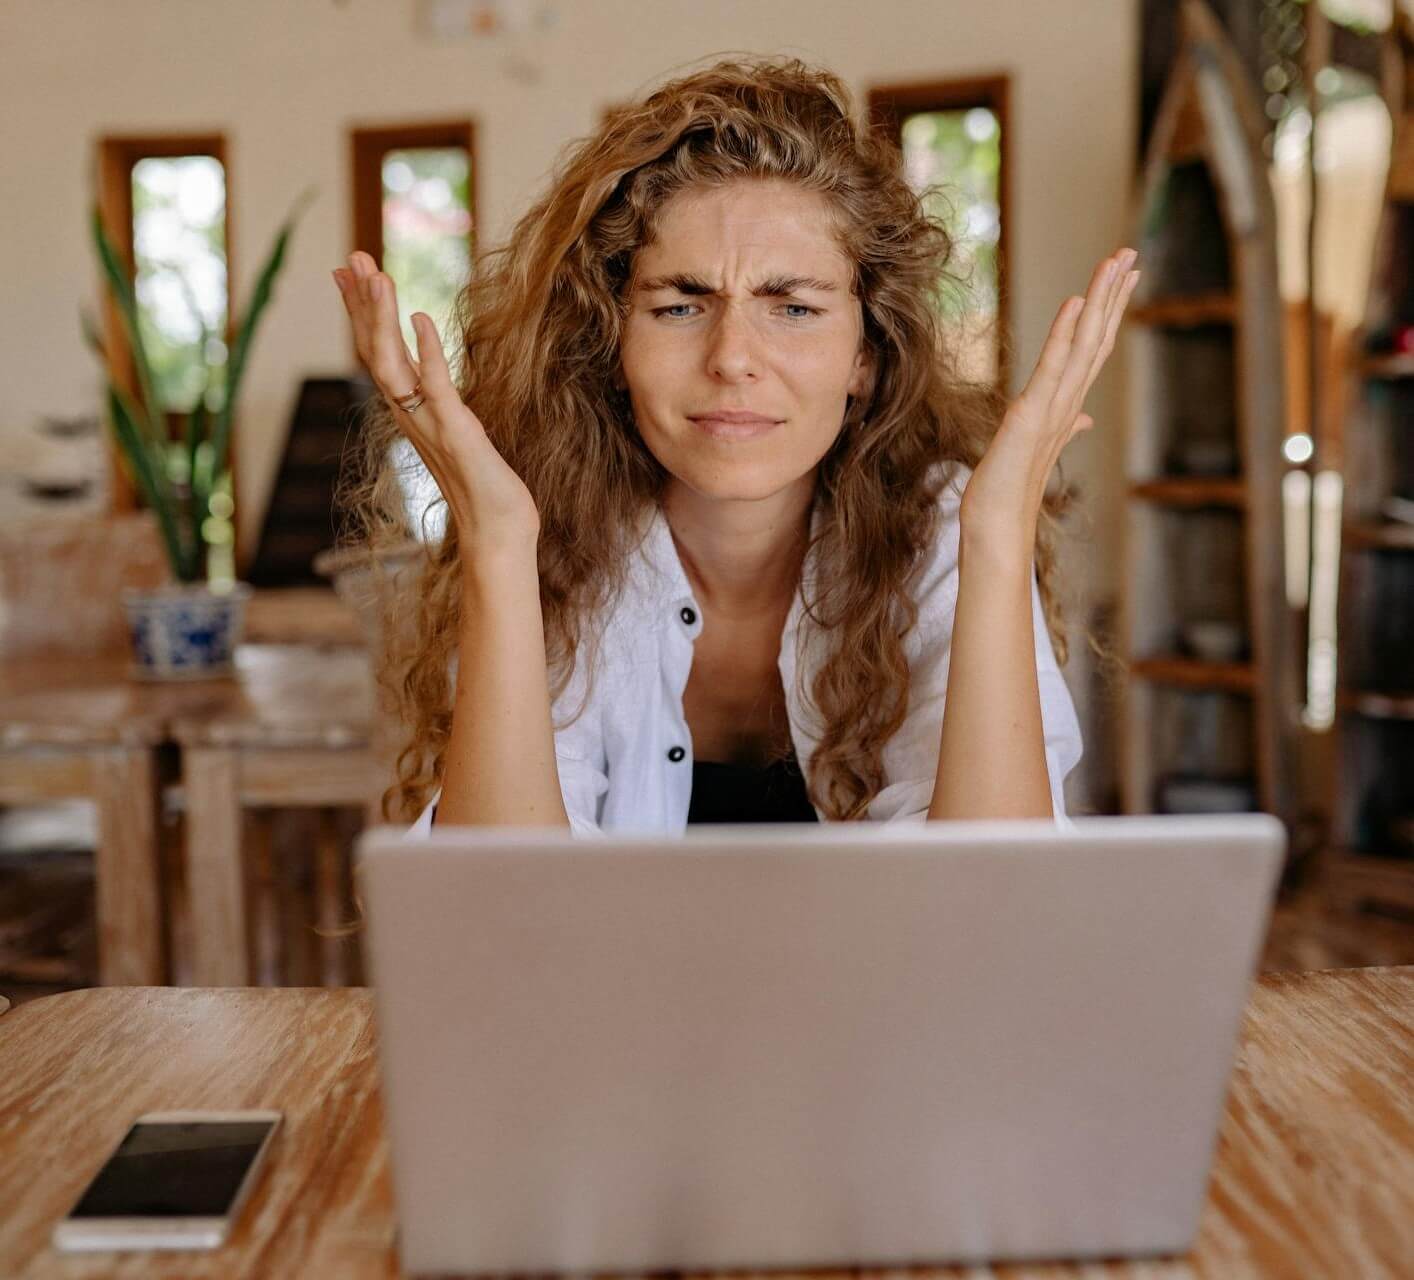
<path fill-rule="evenodd" d="M 830 571 L 805 603 L 807 619 L 834 636 L 805 690 L 824 726 L 806 782 L 827 816 L 858 819 L 884 785 L 881 752 L 908 710 L 902 641 L 918 610 L 906 581 L 937 535 L 939 475 L 952 471 L 935 464 L 974 467 L 1007 402 L 964 379 L 943 342 L 936 296 L 967 289 L 949 270 L 953 242 L 904 180 L 898 144 L 855 117 L 843 82 L 796 59 L 724 61 L 611 112 L 561 158 L 506 245 L 478 262 L 454 310 L 452 378 L 540 512 L 546 663 L 559 697 L 581 642 L 592 652 L 597 635 L 584 634 L 585 624 L 617 600 L 639 518 L 669 479 L 615 386 L 633 255 L 676 194 L 754 178 L 826 198 L 854 263 L 872 358 L 870 392 L 851 399 L 819 464 L 823 519 L 812 547 Z M 410 536 L 392 448 L 399 434 L 375 400 L 362 467 L 344 487 L 354 540 L 373 554 Z M 1035 546 L 1060 662 L 1053 536 L 1070 496 L 1046 498 Z M 386 600 L 389 619 L 406 619 L 387 629 L 379 669 L 407 733 L 383 795 L 389 820 L 426 806 L 451 733 L 461 607 L 454 522 L 426 540 L 423 556 L 411 615 L 409 601 Z"/>

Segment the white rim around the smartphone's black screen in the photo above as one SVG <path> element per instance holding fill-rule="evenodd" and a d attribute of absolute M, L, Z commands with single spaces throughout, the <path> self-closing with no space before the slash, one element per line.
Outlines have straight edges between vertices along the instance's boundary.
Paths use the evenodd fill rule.
<path fill-rule="evenodd" d="M 240 1180 L 236 1195 L 230 1202 L 230 1211 L 221 1218 L 71 1218 L 69 1214 L 83 1198 L 93 1178 L 98 1177 L 109 1160 L 117 1153 L 123 1139 L 134 1124 L 228 1124 L 239 1122 L 259 1122 L 270 1126 L 269 1133 L 260 1141 L 256 1158 L 250 1161 L 250 1168 Z M 240 1215 L 242 1205 L 250 1195 L 250 1189 L 260 1180 L 260 1170 L 280 1130 L 283 1113 L 276 1110 L 168 1110 L 144 1112 L 137 1116 L 119 1136 L 117 1143 L 103 1157 L 93 1175 L 83 1184 L 78 1199 L 54 1225 L 52 1243 L 55 1249 L 66 1253 L 89 1253 L 95 1250 L 146 1250 L 146 1249 L 219 1249 L 230 1233 L 230 1223 Z"/>

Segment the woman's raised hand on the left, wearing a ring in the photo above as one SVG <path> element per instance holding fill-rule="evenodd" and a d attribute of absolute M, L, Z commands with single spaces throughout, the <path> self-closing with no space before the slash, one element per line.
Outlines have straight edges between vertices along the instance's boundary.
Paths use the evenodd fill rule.
<path fill-rule="evenodd" d="M 457 393 L 431 317 L 413 313 L 414 361 L 403 342 L 392 277 L 358 250 L 346 267 L 334 272 L 334 280 L 354 324 L 359 359 L 447 499 L 462 556 L 506 550 L 533 556 L 540 532 L 534 498 Z M 407 413 L 393 397 L 406 396 L 419 382 L 426 399 Z"/>

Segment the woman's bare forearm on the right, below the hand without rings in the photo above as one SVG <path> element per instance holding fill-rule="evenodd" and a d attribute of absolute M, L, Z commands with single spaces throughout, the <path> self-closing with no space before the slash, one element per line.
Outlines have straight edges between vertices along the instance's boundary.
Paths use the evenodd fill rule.
<path fill-rule="evenodd" d="M 957 604 L 929 819 L 1052 818 L 1031 612 L 1028 530 L 962 530 Z"/>

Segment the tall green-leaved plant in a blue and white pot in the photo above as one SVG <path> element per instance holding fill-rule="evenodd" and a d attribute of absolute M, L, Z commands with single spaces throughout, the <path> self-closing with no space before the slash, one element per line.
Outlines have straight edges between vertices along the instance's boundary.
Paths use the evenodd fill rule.
<path fill-rule="evenodd" d="M 178 277 L 187 304 L 201 327 L 201 386 L 195 403 L 184 414 L 180 438 L 168 430 L 168 414 L 158 402 L 141 330 L 137 297 L 98 206 L 92 211 L 93 248 L 137 371 L 136 395 L 124 390 L 115 354 L 103 342 L 89 314 L 82 314 L 83 332 L 98 352 L 107 378 L 107 419 L 143 504 L 153 512 L 173 571 L 173 583 L 156 590 L 123 593 L 133 636 L 132 673 L 139 679 L 206 679 L 235 673 L 235 651 L 240 642 L 245 605 L 250 587 L 245 583 L 208 580 L 212 547 L 212 499 L 223 496 L 222 485 L 230 470 L 230 424 L 236 397 L 250 355 L 256 325 L 270 303 L 276 277 L 284 264 L 294 223 L 312 191 L 296 201 L 280 228 L 245 315 L 233 325 L 223 390 L 214 386 L 211 338 L 195 304 L 195 294 Z M 212 403 L 215 402 L 215 403 Z M 229 499 L 225 499 L 229 506 Z"/>

